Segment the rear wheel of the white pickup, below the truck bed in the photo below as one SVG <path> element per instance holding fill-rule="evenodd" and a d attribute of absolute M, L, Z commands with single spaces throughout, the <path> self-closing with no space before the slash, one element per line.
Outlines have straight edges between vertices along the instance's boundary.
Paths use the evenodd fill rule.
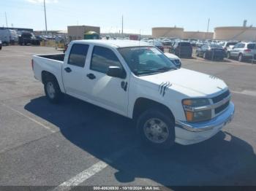
<path fill-rule="evenodd" d="M 53 87 L 52 92 L 50 92 L 50 87 L 48 86 Z M 44 89 L 46 98 L 48 98 L 48 101 L 50 101 L 50 103 L 58 104 L 62 100 L 63 93 L 61 93 L 61 88 L 59 87 L 59 83 L 56 79 L 47 79 L 44 84 Z"/>

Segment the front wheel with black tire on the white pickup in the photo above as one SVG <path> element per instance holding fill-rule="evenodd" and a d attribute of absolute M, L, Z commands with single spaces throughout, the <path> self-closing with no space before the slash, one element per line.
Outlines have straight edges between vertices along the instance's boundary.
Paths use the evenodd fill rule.
<path fill-rule="evenodd" d="M 156 133 L 156 131 L 157 133 L 164 133 L 166 136 L 165 138 L 160 134 L 157 135 L 157 142 L 148 138 L 151 133 L 151 139 L 153 139 L 153 131 L 149 130 L 152 128 L 152 125 L 151 128 L 148 127 L 148 125 L 150 125 L 150 120 L 153 120 L 156 123 L 159 122 L 157 127 L 154 127 L 153 131 L 155 131 L 154 133 Z M 160 127 L 159 124 L 162 124 L 161 122 L 164 122 L 165 125 L 161 125 L 164 128 L 161 128 L 159 132 L 158 128 Z M 175 120 L 170 115 L 165 114 L 165 111 L 162 111 L 161 109 L 148 109 L 146 112 L 140 114 L 137 121 L 137 130 L 143 144 L 146 144 L 149 147 L 156 149 L 170 149 L 175 143 Z M 150 131 L 149 133 L 147 132 L 148 130 Z M 159 138 L 161 136 L 163 139 L 160 141 Z"/>

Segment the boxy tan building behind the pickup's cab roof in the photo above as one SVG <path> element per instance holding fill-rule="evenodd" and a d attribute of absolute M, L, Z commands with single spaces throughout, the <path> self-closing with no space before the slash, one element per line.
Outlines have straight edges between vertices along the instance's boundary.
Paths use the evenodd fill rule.
<path fill-rule="evenodd" d="M 100 34 L 100 28 L 98 26 L 67 26 L 69 41 L 83 39 L 84 34 L 89 31 Z"/>

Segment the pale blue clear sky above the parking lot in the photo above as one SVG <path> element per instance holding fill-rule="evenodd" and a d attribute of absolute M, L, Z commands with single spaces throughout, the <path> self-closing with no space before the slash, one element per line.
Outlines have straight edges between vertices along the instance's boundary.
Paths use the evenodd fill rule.
<path fill-rule="evenodd" d="M 101 32 L 151 34 L 152 27 L 209 31 L 217 26 L 256 26 L 255 0 L 45 0 L 48 30 L 67 26 L 100 26 Z M 45 30 L 43 0 L 1 0 L 0 26 Z"/>

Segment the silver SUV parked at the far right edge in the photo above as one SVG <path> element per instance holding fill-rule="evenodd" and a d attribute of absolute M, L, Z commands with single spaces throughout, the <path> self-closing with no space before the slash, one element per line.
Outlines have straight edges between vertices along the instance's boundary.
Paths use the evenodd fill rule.
<path fill-rule="evenodd" d="M 240 42 L 231 50 L 227 51 L 227 58 L 236 58 L 238 61 L 255 60 L 256 59 L 256 43 Z"/>

